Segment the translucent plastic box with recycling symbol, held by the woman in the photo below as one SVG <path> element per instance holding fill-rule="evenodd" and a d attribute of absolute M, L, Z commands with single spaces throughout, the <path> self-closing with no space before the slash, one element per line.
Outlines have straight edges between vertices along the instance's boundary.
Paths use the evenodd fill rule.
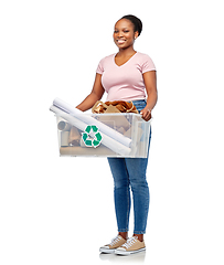
<path fill-rule="evenodd" d="M 61 156 L 146 158 L 150 121 L 139 114 L 89 114 L 90 123 L 56 115 Z"/>

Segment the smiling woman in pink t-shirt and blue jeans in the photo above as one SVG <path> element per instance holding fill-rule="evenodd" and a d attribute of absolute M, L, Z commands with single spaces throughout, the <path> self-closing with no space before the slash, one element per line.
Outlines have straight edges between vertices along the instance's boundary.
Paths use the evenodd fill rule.
<path fill-rule="evenodd" d="M 99 62 L 93 91 L 77 106 L 78 109 L 85 112 L 92 108 L 106 91 L 107 100 L 131 100 L 142 118 L 146 121 L 150 119 L 157 103 L 156 67 L 148 55 L 134 50 L 134 43 L 141 30 L 142 23 L 135 15 L 125 15 L 117 21 L 114 41 L 119 51 Z M 143 234 L 149 209 L 149 188 L 146 179 L 148 158 L 108 158 L 108 162 L 114 177 L 118 235 L 99 251 L 124 255 L 145 251 Z M 132 237 L 128 239 L 130 188 L 135 229 Z"/>

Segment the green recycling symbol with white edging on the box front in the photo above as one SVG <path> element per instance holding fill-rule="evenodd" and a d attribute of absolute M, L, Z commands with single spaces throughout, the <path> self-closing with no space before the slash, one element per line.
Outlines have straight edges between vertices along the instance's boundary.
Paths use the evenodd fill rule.
<path fill-rule="evenodd" d="M 102 135 L 95 125 L 88 125 L 85 132 L 82 132 L 82 139 L 87 147 L 98 147 L 102 142 Z"/>

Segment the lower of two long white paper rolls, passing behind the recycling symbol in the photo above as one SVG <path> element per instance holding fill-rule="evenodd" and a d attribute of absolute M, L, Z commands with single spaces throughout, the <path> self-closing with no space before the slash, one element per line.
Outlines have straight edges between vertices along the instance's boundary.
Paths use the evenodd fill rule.
<path fill-rule="evenodd" d="M 71 116 L 70 114 L 65 113 L 64 110 L 60 109 L 58 107 L 55 106 L 51 106 L 50 108 L 53 113 L 55 113 L 56 115 L 58 115 L 60 117 L 64 118 L 65 120 L 67 120 L 71 125 L 75 126 L 76 128 L 81 129 L 82 131 L 85 131 L 86 126 L 89 124 L 84 123 L 83 120 Z M 82 114 L 82 116 L 85 116 Z M 97 121 L 93 118 L 94 121 Z M 100 124 L 100 123 L 99 123 Z M 96 123 L 94 123 L 94 125 L 96 125 Z M 100 130 L 100 128 L 99 128 Z M 114 130 L 114 129 L 113 129 Z M 115 130 L 114 130 L 115 131 Z M 94 137 L 94 134 L 90 132 L 89 135 L 92 137 Z M 119 132 L 118 132 L 119 134 Z M 110 150 L 113 150 L 114 152 L 120 155 L 120 156 L 128 156 L 131 151 L 130 148 L 128 148 L 127 146 L 120 144 L 119 141 L 113 139 L 111 137 L 109 137 L 108 135 L 104 134 L 100 130 L 100 135 L 103 137 L 102 139 L 102 144 L 106 147 L 108 147 Z M 120 135 L 120 134 L 119 134 Z M 124 137 L 126 138 L 126 137 Z M 128 139 L 128 138 L 127 138 Z M 129 139 L 130 140 L 130 139 Z M 98 147 L 97 147 L 98 148 Z M 90 149 L 90 148 L 89 148 Z M 95 149 L 95 148 L 94 148 Z M 96 150 L 96 149 L 95 149 Z"/>

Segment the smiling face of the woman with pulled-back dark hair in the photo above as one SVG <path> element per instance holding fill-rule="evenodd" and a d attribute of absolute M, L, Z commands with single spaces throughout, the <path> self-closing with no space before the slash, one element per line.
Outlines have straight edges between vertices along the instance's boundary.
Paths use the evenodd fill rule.
<path fill-rule="evenodd" d="M 114 41 L 119 49 L 127 49 L 134 45 L 135 38 L 138 36 L 138 31 L 134 32 L 131 21 L 121 19 L 115 24 Z"/>

